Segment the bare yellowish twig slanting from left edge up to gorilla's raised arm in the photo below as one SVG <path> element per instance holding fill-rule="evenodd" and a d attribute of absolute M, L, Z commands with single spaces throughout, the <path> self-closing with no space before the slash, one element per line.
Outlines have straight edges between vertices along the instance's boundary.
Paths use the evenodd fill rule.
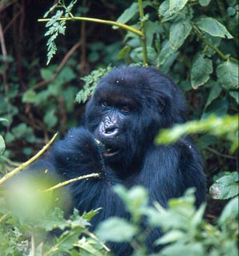
<path fill-rule="evenodd" d="M 26 166 L 30 165 L 32 162 L 34 162 L 36 159 L 38 159 L 39 156 L 43 155 L 43 152 L 47 150 L 47 148 L 50 147 L 52 142 L 55 140 L 56 136 L 58 136 L 58 132 L 55 133 L 55 135 L 52 137 L 52 139 L 33 157 L 30 158 L 30 160 L 26 161 L 25 163 L 22 163 L 22 165 L 19 165 L 17 168 L 15 168 L 10 173 L 6 173 L 5 176 L 2 177 L 0 180 L 0 185 L 2 185 L 5 181 L 7 181 L 10 177 L 13 177 L 15 174 L 19 173 L 22 169 L 24 169 Z"/>

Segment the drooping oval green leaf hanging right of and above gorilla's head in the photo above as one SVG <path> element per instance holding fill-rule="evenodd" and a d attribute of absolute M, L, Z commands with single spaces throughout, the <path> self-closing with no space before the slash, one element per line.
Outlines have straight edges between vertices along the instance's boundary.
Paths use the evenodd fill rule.
<path fill-rule="evenodd" d="M 205 58 L 205 55 L 198 55 L 192 64 L 191 83 L 194 89 L 205 84 L 209 80 L 209 74 L 213 72 L 213 62 Z"/>

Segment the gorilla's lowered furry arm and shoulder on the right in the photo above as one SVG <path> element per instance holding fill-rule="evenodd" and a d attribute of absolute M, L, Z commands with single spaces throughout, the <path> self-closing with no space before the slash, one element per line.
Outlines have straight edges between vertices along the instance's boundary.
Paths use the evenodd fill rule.
<path fill-rule="evenodd" d="M 149 193 L 151 204 L 159 201 L 167 207 L 168 199 L 180 197 L 188 188 L 196 188 L 196 206 L 205 201 L 205 174 L 201 154 L 189 137 L 175 144 L 153 146 L 144 158 L 138 177 Z"/>

